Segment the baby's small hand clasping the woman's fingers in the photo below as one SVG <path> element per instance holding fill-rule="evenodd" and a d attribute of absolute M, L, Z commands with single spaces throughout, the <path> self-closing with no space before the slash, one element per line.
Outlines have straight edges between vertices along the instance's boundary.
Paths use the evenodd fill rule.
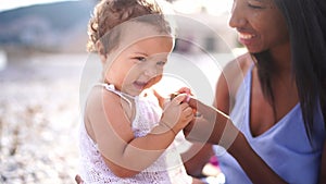
<path fill-rule="evenodd" d="M 178 95 L 164 108 L 161 123 L 172 128 L 175 134 L 193 119 L 192 109 L 187 102 L 183 102 L 186 98 L 185 94 Z"/>

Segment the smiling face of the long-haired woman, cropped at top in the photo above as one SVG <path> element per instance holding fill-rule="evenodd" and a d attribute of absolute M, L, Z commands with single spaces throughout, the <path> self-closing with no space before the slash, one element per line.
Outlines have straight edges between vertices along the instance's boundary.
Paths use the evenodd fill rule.
<path fill-rule="evenodd" d="M 251 53 L 289 44 L 285 19 L 273 0 L 234 0 L 229 25 Z"/>

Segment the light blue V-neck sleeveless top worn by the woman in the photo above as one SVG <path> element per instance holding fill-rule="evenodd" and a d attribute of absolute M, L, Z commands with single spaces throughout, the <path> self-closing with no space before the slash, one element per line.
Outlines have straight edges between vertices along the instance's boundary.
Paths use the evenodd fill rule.
<path fill-rule="evenodd" d="M 230 119 L 244 134 L 254 151 L 288 183 L 317 183 L 322 149 L 326 137 L 321 107 L 318 106 L 314 112 L 313 144 L 310 143 L 305 133 L 300 103 L 273 127 L 253 137 L 249 122 L 252 69 L 253 65 L 237 91 Z M 214 150 L 227 184 L 251 183 L 238 162 L 224 148 L 214 146 Z M 254 170 L 254 168 L 252 169 Z"/>

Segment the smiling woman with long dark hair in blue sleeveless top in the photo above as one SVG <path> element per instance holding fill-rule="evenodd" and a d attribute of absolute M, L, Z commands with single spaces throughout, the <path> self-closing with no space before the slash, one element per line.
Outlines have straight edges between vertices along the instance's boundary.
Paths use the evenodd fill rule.
<path fill-rule="evenodd" d="M 203 115 L 185 128 L 227 150 L 226 183 L 326 183 L 325 16 L 324 0 L 234 0 L 248 53 L 224 69 L 214 102 L 230 119 L 192 101 Z"/>

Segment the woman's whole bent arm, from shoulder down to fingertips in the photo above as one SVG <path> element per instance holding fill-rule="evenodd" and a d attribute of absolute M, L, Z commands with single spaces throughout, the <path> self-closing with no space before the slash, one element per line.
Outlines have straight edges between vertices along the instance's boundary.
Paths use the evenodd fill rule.
<path fill-rule="evenodd" d="M 229 120 L 236 94 L 252 64 L 249 53 L 229 62 L 218 78 L 214 107 L 191 99 L 189 105 L 202 114 L 184 130 L 188 139 L 223 146 L 239 162 L 253 183 L 286 183 L 251 148 Z M 218 110 L 217 110 L 218 109 Z"/>

